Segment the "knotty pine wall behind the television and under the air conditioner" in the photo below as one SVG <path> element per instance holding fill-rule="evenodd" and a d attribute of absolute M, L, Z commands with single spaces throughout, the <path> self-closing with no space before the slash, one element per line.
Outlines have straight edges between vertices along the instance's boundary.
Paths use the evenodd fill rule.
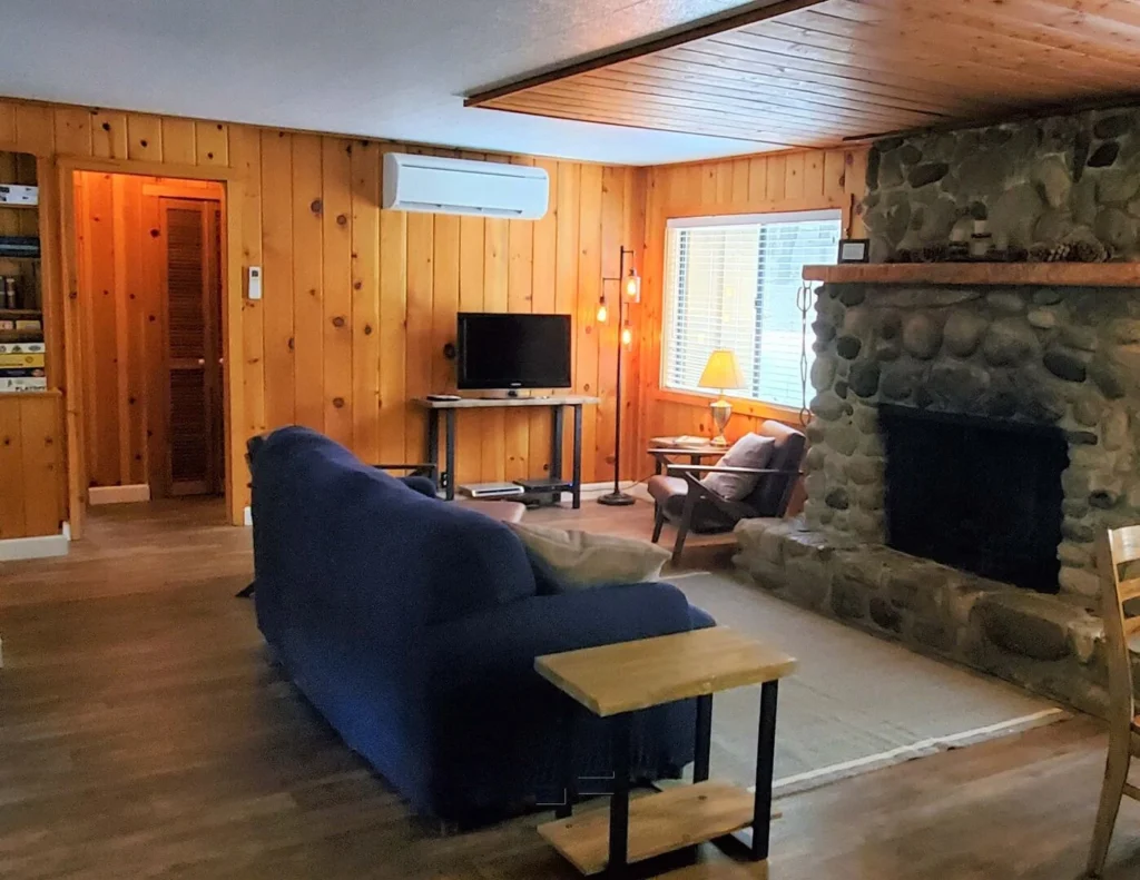
<path fill-rule="evenodd" d="M 241 261 L 262 266 L 264 291 L 241 309 L 238 437 L 301 423 L 365 459 L 420 461 L 423 417 L 408 400 L 454 383 L 442 349 L 455 312 L 567 311 L 576 327 L 573 390 L 602 398 L 587 413 L 584 478 L 609 476 L 618 328 L 594 316 L 603 276 L 618 275 L 620 247 L 640 250 L 634 243 L 644 237 L 645 170 L 463 154 L 547 170 L 551 211 L 523 222 L 381 211 L 382 156 L 410 148 L 375 140 L 0 100 L 2 148 L 32 153 L 49 171 L 63 156 L 138 161 L 146 173 L 161 165 L 171 177 L 181 166 L 229 169 Z M 58 179 L 41 181 L 46 238 L 55 239 L 44 242 L 57 352 L 49 374 L 63 388 Z M 638 343 L 627 361 L 627 424 L 635 423 Z M 538 476 L 548 465 L 545 414 L 464 414 L 461 422 L 461 481 Z M 638 453 L 626 447 L 632 466 Z M 237 513 L 247 492 L 244 462 L 235 464 Z"/>

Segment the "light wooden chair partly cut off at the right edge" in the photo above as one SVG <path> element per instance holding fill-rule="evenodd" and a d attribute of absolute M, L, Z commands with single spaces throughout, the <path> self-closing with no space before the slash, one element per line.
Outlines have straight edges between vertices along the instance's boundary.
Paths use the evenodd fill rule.
<path fill-rule="evenodd" d="M 1097 564 L 1104 589 L 1105 647 L 1108 661 L 1108 760 L 1100 809 L 1092 834 L 1089 877 L 1100 877 L 1113 839 L 1121 799 L 1140 800 L 1140 789 L 1129 782 L 1132 758 L 1140 756 L 1140 716 L 1133 696 L 1129 638 L 1140 633 L 1140 617 L 1127 618 L 1124 603 L 1140 597 L 1140 577 L 1121 567 L 1140 561 L 1140 525 L 1110 529 L 1098 547 Z"/>

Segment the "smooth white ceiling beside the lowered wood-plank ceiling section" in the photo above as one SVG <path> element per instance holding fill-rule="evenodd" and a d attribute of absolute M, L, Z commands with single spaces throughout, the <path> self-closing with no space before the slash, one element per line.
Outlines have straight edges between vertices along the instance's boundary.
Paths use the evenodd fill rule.
<path fill-rule="evenodd" d="M 741 0 L 3 0 L 0 95 L 628 164 L 750 141 L 465 108 Z"/>

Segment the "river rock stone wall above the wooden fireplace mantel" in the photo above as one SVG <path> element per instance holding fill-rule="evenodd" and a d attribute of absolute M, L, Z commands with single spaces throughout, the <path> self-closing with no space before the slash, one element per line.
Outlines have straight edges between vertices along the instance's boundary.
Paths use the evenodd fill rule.
<path fill-rule="evenodd" d="M 1094 241 L 1140 255 L 1140 108 L 878 141 L 868 162 L 871 259 L 945 244 L 986 219 L 995 246 Z"/>

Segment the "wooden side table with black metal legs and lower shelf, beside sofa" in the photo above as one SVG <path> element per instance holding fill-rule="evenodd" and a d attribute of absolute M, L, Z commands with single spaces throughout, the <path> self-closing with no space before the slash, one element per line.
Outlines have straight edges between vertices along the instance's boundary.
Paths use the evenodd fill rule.
<path fill-rule="evenodd" d="M 565 761 L 565 804 L 538 833 L 584 874 L 620 877 L 630 863 L 665 855 L 751 826 L 751 857 L 768 856 L 772 760 L 779 679 L 796 660 L 728 627 L 587 647 L 535 659 L 535 669 L 600 717 L 614 717 L 613 797 L 609 814 L 572 816 L 576 780 Z M 756 791 L 709 780 L 712 694 L 760 684 Z M 693 784 L 629 800 L 633 714 L 698 698 Z M 568 712 L 568 724 L 572 714 Z M 572 732 L 567 736 L 572 742 Z"/>

